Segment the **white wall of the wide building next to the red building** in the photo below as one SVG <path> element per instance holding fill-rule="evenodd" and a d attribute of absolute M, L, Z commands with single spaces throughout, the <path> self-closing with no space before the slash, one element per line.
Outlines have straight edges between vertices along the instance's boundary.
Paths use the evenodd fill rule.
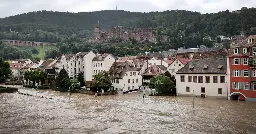
<path fill-rule="evenodd" d="M 201 87 L 205 87 L 205 95 L 213 97 L 227 97 L 227 75 L 220 74 L 185 74 L 185 82 L 181 82 L 181 75 L 176 74 L 177 95 L 194 95 L 201 96 Z M 192 82 L 188 82 L 188 76 L 192 76 Z M 193 82 L 193 76 L 197 76 L 197 83 Z M 203 83 L 198 83 L 198 76 L 203 76 Z M 205 83 L 205 76 L 210 76 L 210 83 Z M 213 83 L 213 76 L 218 76 L 218 83 Z M 220 76 L 225 76 L 225 83 L 220 83 Z M 190 92 L 186 92 L 186 87 L 190 88 Z M 222 94 L 218 94 L 218 88 L 222 88 Z"/>

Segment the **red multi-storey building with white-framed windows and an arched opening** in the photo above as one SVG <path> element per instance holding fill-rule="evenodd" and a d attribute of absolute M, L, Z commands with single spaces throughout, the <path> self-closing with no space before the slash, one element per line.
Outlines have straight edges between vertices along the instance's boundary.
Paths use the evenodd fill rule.
<path fill-rule="evenodd" d="M 256 101 L 256 35 L 234 41 L 227 61 L 229 99 Z"/>

